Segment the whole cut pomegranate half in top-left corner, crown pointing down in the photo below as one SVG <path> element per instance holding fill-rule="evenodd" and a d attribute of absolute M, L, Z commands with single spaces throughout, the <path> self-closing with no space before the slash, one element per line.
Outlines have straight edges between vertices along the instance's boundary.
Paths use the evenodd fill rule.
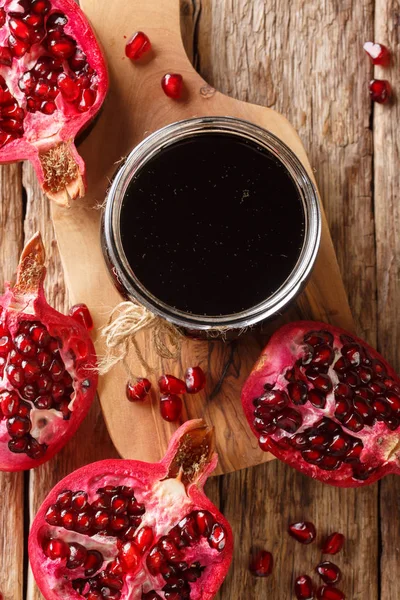
<path fill-rule="evenodd" d="M 0 28 L 0 162 L 28 159 L 58 204 L 85 192 L 74 138 L 99 111 L 106 65 L 74 0 L 6 0 Z"/>

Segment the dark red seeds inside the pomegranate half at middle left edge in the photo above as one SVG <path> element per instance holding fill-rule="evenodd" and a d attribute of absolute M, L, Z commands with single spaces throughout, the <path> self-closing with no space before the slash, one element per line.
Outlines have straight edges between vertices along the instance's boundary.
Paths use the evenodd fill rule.
<path fill-rule="evenodd" d="M 14 336 L 0 321 L 0 417 L 6 419 L 11 452 L 41 458 L 47 450 L 30 435 L 30 413 L 55 409 L 69 419 L 73 380 L 60 356 L 59 343 L 39 321 L 23 321 Z M 14 389 L 10 390 L 10 386 Z"/>

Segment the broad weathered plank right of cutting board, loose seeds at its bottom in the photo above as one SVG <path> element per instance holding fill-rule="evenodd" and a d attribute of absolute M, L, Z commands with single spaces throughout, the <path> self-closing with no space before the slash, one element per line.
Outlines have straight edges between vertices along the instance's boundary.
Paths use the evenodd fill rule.
<path fill-rule="evenodd" d="M 201 7 L 195 59 L 203 77 L 236 98 L 277 109 L 299 131 L 316 170 L 358 330 L 376 343 L 372 136 L 365 88 L 370 67 L 362 51 L 373 32 L 372 0 L 344 5 L 198 0 L 194 5 Z M 225 476 L 220 487 L 213 481 L 209 489 L 233 524 L 237 544 L 221 598 L 293 598 L 295 577 L 312 574 L 320 554 L 315 545 L 304 549 L 289 538 L 292 519 L 314 521 L 320 536 L 342 531 L 348 542 L 337 562 L 344 567 L 346 597 L 379 597 L 377 485 L 333 489 L 274 462 Z M 365 530 L 368 536 L 362 535 Z M 274 554 L 274 574 L 267 580 L 248 573 L 254 546 Z"/>

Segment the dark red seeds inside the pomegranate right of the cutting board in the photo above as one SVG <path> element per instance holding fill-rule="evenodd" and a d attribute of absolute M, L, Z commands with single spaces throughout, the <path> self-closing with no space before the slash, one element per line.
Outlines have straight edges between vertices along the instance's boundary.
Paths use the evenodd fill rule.
<path fill-rule="evenodd" d="M 304 336 L 303 356 L 285 373 L 286 390 L 266 384 L 265 392 L 253 403 L 254 427 L 260 446 L 271 450 L 294 448 L 302 458 L 327 471 L 351 464 L 356 479 L 371 471 L 360 461 L 363 442 L 355 435 L 364 427 L 383 422 L 391 431 L 400 426 L 400 386 L 387 374 L 382 362 L 352 337 L 340 336 L 334 346 L 328 331 L 311 331 Z M 339 380 L 334 386 L 332 377 Z M 298 431 L 303 417 L 298 407 L 325 409 L 327 395 L 334 393 L 334 418 L 317 419 L 314 426 Z M 278 439 L 273 439 L 274 434 Z M 282 433 L 288 435 L 279 436 Z"/>

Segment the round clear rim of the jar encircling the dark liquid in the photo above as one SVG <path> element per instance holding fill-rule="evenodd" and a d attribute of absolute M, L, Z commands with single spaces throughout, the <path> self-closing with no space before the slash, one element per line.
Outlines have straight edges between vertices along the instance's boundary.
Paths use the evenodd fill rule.
<path fill-rule="evenodd" d="M 128 185 L 157 152 L 169 145 L 206 133 L 228 133 L 251 140 L 271 152 L 288 170 L 295 183 L 305 214 L 303 248 L 286 281 L 265 301 L 237 314 L 204 316 L 180 311 L 153 296 L 135 277 L 122 247 L 120 235 L 121 206 Z M 129 154 L 116 173 L 107 193 L 103 215 L 103 243 L 107 262 L 126 296 L 140 302 L 152 313 L 179 327 L 194 330 L 240 329 L 279 314 L 301 291 L 314 265 L 321 239 L 321 212 L 316 188 L 294 152 L 275 135 L 261 127 L 235 117 L 199 117 L 178 121 L 145 138 Z"/>

